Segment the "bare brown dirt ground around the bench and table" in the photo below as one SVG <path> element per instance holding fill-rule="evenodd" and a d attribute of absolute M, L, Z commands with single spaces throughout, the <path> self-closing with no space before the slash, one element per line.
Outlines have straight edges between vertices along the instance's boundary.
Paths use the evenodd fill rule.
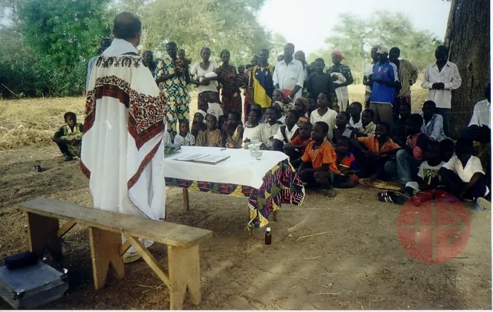
<path fill-rule="evenodd" d="M 40 164 L 46 171 L 33 170 Z M 90 206 L 78 162 L 62 162 L 55 146 L 0 152 L 0 258 L 28 250 L 26 216 L 16 202 L 42 196 Z M 200 246 L 202 304 L 185 309 L 491 309 L 491 214 L 469 209 L 472 231 L 456 259 L 419 263 L 397 238 L 400 206 L 380 203 L 375 189 L 338 191 L 334 200 L 308 193 L 301 207 L 285 205 L 249 241 L 247 200 L 166 189 L 168 221 L 210 229 Z M 327 232 L 300 239 L 302 236 Z M 151 247 L 166 267 L 166 248 Z M 44 309 L 168 309 L 168 291 L 144 261 L 126 265 L 126 278 L 94 291 L 87 229 L 64 239 L 60 266 L 69 293 Z M 0 300 L 0 309 L 10 306 Z"/>

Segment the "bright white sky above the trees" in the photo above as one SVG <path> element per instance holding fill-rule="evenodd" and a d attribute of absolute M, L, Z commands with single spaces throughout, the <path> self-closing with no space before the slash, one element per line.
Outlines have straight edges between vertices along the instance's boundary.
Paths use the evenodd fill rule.
<path fill-rule="evenodd" d="M 259 12 L 261 25 L 280 33 L 296 50 L 306 54 L 325 48 L 325 38 L 340 13 L 370 18 L 379 10 L 401 12 L 416 28 L 429 30 L 443 40 L 450 3 L 442 0 L 266 0 Z"/>

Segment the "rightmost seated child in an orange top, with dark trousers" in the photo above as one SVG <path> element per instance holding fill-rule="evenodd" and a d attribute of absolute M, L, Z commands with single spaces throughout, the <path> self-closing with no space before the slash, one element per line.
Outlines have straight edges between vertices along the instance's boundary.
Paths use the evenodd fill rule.
<path fill-rule="evenodd" d="M 356 150 L 356 160 L 361 165 L 361 170 L 356 173 L 358 177 L 368 178 L 370 182 L 377 178 L 385 179 L 385 164 L 400 149 L 400 146 L 388 137 L 389 134 L 390 125 L 380 121 L 374 137 L 358 137 L 351 140 Z"/>

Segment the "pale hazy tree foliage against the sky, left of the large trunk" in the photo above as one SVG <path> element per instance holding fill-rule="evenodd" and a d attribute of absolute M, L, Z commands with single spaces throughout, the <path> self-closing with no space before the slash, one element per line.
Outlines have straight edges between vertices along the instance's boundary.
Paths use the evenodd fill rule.
<path fill-rule="evenodd" d="M 370 49 L 375 44 L 388 49 L 399 47 L 401 58 L 409 60 L 420 70 L 433 60 L 435 47 L 441 44 L 432 33 L 416 29 L 408 17 L 400 13 L 378 12 L 371 19 L 342 14 L 332 31 L 335 35 L 325 40 L 328 49 L 312 53 L 309 60 L 321 57 L 331 64 L 331 51 L 343 51 L 344 62 L 356 73 L 353 75 L 356 80 L 362 78 L 363 67 L 365 62 L 370 62 Z"/>

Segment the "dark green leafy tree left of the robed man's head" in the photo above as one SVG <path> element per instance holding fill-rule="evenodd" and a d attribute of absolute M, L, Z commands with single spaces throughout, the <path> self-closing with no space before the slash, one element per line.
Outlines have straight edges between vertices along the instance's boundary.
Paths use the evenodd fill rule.
<path fill-rule="evenodd" d="M 110 35 L 106 6 L 106 0 L 29 0 L 19 8 L 22 33 L 42 62 L 71 67 L 94 55 L 101 37 Z"/>

